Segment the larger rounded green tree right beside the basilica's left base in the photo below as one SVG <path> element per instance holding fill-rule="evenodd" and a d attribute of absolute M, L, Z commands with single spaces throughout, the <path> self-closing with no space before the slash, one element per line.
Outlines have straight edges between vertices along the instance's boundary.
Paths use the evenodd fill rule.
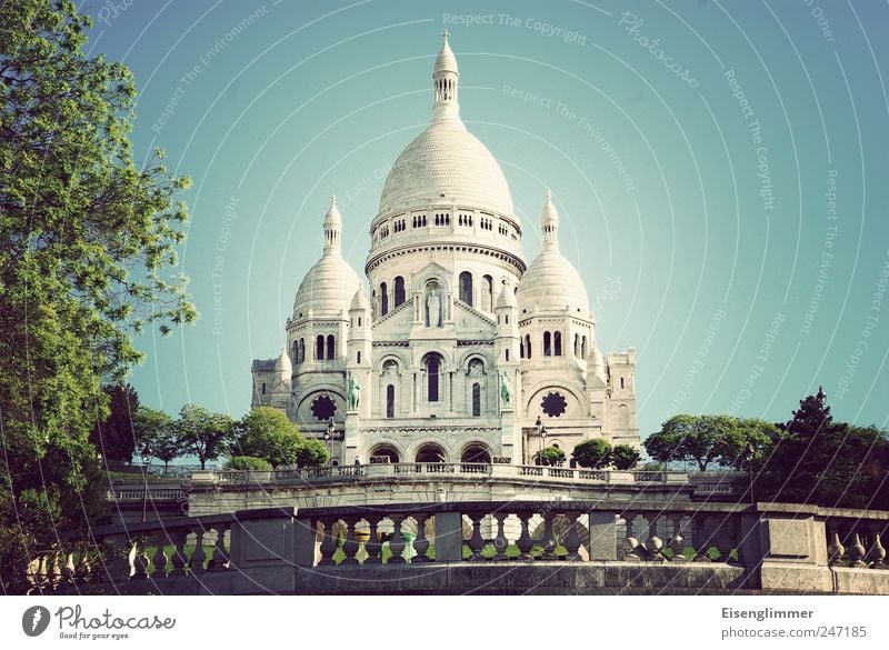
<path fill-rule="evenodd" d="M 264 458 L 273 467 L 297 464 L 306 440 L 288 417 L 271 407 L 259 407 L 237 424 L 233 449 L 241 456 Z"/>

